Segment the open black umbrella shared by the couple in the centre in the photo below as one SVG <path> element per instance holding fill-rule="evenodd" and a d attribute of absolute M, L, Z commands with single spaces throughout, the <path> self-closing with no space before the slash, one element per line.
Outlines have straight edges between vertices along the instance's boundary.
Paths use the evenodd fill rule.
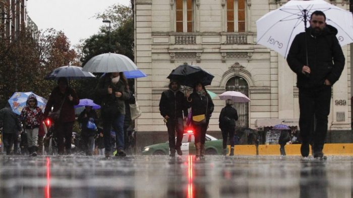
<path fill-rule="evenodd" d="M 214 76 L 198 65 L 184 63 L 171 71 L 167 78 L 178 81 L 181 85 L 194 87 L 196 83 L 211 85 Z"/>

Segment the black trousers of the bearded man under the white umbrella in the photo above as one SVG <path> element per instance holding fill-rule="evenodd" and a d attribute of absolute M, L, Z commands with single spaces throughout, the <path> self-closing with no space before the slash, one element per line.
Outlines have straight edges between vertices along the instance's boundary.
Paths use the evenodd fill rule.
<path fill-rule="evenodd" d="M 303 144 L 313 142 L 313 150 L 321 152 L 327 134 L 331 86 L 299 89 L 299 127 Z"/>

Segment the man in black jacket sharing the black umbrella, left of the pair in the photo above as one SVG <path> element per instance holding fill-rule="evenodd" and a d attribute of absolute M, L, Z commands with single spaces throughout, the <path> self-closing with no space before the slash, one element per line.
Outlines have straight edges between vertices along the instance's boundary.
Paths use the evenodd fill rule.
<path fill-rule="evenodd" d="M 180 84 L 177 81 L 170 80 L 169 89 L 163 91 L 159 101 L 159 111 L 168 128 L 170 157 L 175 156 L 175 150 L 177 150 L 178 155 L 183 155 L 181 146 L 184 120 L 188 116 L 188 109 L 185 95 L 180 91 Z M 176 144 L 175 131 L 177 131 Z"/>

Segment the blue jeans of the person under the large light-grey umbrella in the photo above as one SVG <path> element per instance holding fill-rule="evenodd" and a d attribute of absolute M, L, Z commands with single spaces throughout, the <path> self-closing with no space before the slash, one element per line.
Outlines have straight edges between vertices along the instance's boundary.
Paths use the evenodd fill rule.
<path fill-rule="evenodd" d="M 125 115 L 119 114 L 115 117 L 104 117 L 103 118 L 103 135 L 104 135 L 104 146 L 105 153 L 111 151 L 111 127 L 115 131 L 116 149 L 124 150 L 124 118 Z"/>

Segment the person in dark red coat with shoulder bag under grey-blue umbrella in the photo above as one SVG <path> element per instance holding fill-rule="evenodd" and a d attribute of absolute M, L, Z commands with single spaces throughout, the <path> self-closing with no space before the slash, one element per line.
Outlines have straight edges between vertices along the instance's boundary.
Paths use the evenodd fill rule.
<path fill-rule="evenodd" d="M 54 122 L 54 136 L 57 137 L 58 155 L 64 155 L 64 148 L 66 154 L 70 155 L 72 129 L 76 117 L 74 106 L 78 105 L 80 100 L 76 91 L 68 86 L 68 80 L 65 77 L 59 78 L 57 85 L 51 91 L 49 100 L 46 103 L 44 117 L 48 117 L 53 107 L 53 112 L 58 114 L 55 120 L 52 120 Z"/>

